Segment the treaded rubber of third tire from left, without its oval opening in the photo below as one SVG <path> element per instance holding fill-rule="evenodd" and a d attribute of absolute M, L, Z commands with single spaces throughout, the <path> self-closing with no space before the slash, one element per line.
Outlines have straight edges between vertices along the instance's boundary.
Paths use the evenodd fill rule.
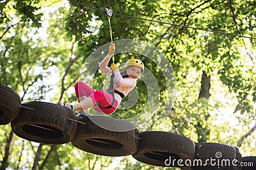
<path fill-rule="evenodd" d="M 111 157 L 132 155 L 133 153 L 137 152 L 139 145 L 138 137 L 140 134 L 138 129 L 135 128 L 125 132 L 108 131 L 107 129 L 99 127 L 98 125 L 93 123 L 92 120 L 90 120 L 90 118 L 88 117 L 98 117 L 98 120 L 101 119 L 100 121 L 104 122 L 108 122 L 109 118 L 111 118 L 106 116 L 85 116 L 82 118 L 78 118 L 79 121 L 86 123 L 86 125 L 78 124 L 77 126 L 76 135 L 71 141 L 72 145 L 74 145 L 76 148 L 79 148 L 80 150 L 88 153 Z M 120 123 L 122 123 L 122 125 L 124 126 L 126 124 L 127 126 L 131 126 L 131 123 L 125 120 L 116 119 L 116 121 L 120 121 Z M 108 139 L 120 143 L 123 146 L 122 148 L 103 148 L 95 145 L 90 145 L 86 142 L 86 140 L 93 138 Z"/>

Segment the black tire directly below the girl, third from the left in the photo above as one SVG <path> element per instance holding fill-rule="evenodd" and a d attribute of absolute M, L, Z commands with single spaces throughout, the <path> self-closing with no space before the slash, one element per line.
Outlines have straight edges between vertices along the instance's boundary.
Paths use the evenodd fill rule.
<path fill-rule="evenodd" d="M 76 148 L 88 153 L 112 157 L 132 155 L 138 150 L 139 132 L 130 122 L 89 115 L 78 120 L 86 124 L 78 124 L 76 136 L 71 141 Z M 116 131 L 109 131 L 95 122 L 111 125 Z M 123 128 L 127 128 L 128 131 L 120 131 Z"/>

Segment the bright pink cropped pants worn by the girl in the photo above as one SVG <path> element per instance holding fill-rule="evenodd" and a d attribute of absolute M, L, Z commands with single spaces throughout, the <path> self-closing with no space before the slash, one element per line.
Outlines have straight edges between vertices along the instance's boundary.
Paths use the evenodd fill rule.
<path fill-rule="evenodd" d="M 75 85 L 76 97 L 90 97 L 93 101 L 93 104 L 98 104 L 97 107 L 93 109 L 99 113 L 111 114 L 118 107 L 118 102 L 115 100 L 115 103 L 112 107 L 108 107 L 113 103 L 113 96 L 102 90 L 93 90 L 92 87 L 89 87 L 83 81 L 78 81 Z M 108 107 L 108 108 L 106 108 Z"/>

